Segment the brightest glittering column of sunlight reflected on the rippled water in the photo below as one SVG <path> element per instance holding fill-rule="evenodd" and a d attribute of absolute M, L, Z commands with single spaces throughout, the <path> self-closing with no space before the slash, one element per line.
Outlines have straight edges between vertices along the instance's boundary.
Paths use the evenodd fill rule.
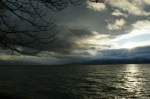
<path fill-rule="evenodd" d="M 124 85 L 123 87 L 134 96 L 141 96 L 144 91 L 145 82 L 142 71 L 140 71 L 140 65 L 128 64 L 125 66 L 124 71 Z"/>

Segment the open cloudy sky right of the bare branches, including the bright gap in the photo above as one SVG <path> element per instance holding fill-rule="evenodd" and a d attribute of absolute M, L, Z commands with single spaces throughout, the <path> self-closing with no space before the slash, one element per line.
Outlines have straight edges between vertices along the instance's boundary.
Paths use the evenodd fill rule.
<path fill-rule="evenodd" d="M 55 50 L 38 55 L 45 61 L 90 60 L 103 57 L 103 51 L 150 46 L 150 0 L 85 0 L 53 17 L 60 39 L 53 44 Z"/>

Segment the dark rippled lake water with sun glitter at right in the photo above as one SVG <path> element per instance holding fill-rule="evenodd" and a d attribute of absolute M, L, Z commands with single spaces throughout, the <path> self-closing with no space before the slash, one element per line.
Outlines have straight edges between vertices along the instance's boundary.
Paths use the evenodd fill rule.
<path fill-rule="evenodd" d="M 150 65 L 1 66 L 0 92 L 25 99 L 150 99 Z"/>

